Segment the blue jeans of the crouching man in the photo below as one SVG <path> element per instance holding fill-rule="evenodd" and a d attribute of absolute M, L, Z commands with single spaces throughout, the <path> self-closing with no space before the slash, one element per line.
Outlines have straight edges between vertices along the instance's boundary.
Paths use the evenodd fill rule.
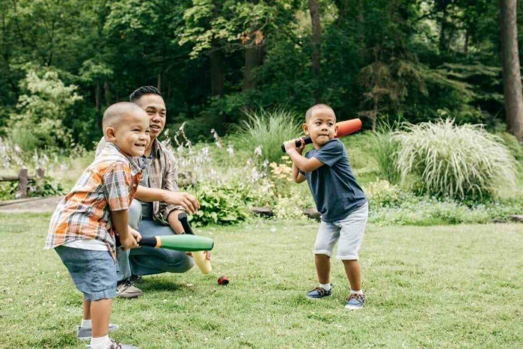
<path fill-rule="evenodd" d="M 142 219 L 142 204 L 133 200 L 129 207 L 129 226 L 142 234 L 142 237 L 155 235 L 173 235 L 169 226 L 155 222 L 150 218 Z M 117 251 L 118 281 L 128 279 L 134 275 L 151 275 L 160 273 L 185 273 L 194 262 L 183 251 L 156 249 L 154 247 L 139 247 L 128 251 Z"/>

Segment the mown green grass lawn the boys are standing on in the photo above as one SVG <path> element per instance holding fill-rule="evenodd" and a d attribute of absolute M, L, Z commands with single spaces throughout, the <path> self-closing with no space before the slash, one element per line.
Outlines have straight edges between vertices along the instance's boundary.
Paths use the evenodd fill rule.
<path fill-rule="evenodd" d="M 81 295 L 54 251 L 49 215 L 0 215 L 0 347 L 84 347 Z M 315 287 L 314 222 L 253 220 L 212 233 L 213 275 L 144 277 L 144 296 L 115 300 L 112 337 L 158 347 L 523 347 L 523 224 L 369 226 L 360 251 L 367 304 L 344 309 Z M 231 284 L 217 285 L 226 274 Z"/>

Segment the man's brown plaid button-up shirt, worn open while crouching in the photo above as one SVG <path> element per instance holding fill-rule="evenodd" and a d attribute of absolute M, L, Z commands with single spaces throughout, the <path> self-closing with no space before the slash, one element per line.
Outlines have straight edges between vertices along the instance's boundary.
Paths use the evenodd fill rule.
<path fill-rule="evenodd" d="M 106 141 L 104 138 L 98 143 L 96 156 L 104 149 Z M 178 171 L 177 164 L 172 152 L 170 152 L 157 139 L 153 141 L 153 151 L 151 153 L 153 160 L 149 167 L 149 187 L 156 189 L 165 189 L 169 192 L 178 192 Z M 138 166 L 136 157 L 131 157 L 130 161 Z M 143 167 L 143 166 L 142 166 Z M 144 171 L 147 171 L 145 167 Z M 163 201 L 153 201 L 153 219 L 164 224 L 169 224 L 167 217 L 174 210 L 184 210 L 183 207 L 170 205 Z"/>

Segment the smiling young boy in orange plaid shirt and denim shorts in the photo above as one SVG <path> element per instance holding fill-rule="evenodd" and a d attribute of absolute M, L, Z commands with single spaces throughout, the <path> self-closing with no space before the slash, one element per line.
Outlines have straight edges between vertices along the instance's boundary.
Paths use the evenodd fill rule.
<path fill-rule="evenodd" d="M 111 340 L 108 331 L 118 328 L 109 324 L 117 282 L 115 234 L 123 250 L 137 247 L 141 238 L 128 227 L 128 209 L 150 159 L 140 168 L 129 157 L 143 156 L 150 142 L 149 116 L 138 105 L 122 102 L 107 108 L 102 124 L 108 143 L 56 207 L 46 249 L 55 249 L 83 293 L 77 331 L 92 333 L 77 337 L 90 337 L 92 349 L 133 348 Z"/>

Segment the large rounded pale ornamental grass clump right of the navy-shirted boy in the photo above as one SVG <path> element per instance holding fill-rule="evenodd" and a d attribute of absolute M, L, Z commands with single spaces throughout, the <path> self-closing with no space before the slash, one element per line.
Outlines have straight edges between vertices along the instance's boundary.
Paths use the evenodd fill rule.
<path fill-rule="evenodd" d="M 393 134 L 400 143 L 396 165 L 403 184 L 460 200 L 495 196 L 499 184 L 514 184 L 513 157 L 499 137 L 483 128 L 456 126 L 450 119 L 405 128 Z"/>

